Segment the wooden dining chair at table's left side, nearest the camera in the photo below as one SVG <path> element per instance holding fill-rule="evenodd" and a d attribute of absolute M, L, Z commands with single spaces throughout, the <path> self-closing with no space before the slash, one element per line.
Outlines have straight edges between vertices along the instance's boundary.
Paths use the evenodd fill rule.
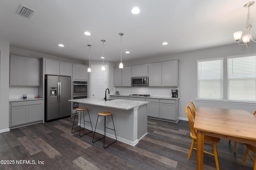
<path fill-rule="evenodd" d="M 188 105 L 186 105 L 185 109 L 186 109 L 186 113 L 187 113 L 187 116 L 188 116 L 188 121 L 189 121 L 189 126 L 190 126 L 190 131 L 191 131 L 190 132 L 190 137 L 192 138 L 191 147 L 190 147 L 190 150 L 189 150 L 189 153 L 188 153 L 188 159 L 190 159 L 190 156 L 192 154 L 192 150 L 193 149 L 197 150 L 196 148 L 194 148 L 194 144 L 197 140 L 197 132 L 194 129 L 194 121 L 193 121 L 192 110 L 190 109 L 190 107 Z M 216 146 L 217 143 L 220 143 L 220 138 L 210 137 L 210 136 L 204 135 L 204 144 L 205 145 L 211 145 L 213 147 L 213 152 L 214 153 L 207 152 L 205 150 L 203 152 L 214 156 L 216 169 L 219 170 L 220 168 L 219 168 L 218 152 L 217 152 L 217 146 Z"/>

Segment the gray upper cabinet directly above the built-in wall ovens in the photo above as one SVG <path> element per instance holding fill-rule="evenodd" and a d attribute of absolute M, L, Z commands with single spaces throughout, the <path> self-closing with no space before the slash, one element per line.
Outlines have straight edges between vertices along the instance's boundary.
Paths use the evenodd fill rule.
<path fill-rule="evenodd" d="M 73 80 L 88 80 L 89 73 L 87 72 L 88 66 L 81 64 L 73 64 Z"/>

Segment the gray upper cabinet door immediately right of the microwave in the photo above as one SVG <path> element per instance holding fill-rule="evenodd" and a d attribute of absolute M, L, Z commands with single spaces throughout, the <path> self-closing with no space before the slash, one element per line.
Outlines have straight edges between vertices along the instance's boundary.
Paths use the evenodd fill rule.
<path fill-rule="evenodd" d="M 162 85 L 162 64 L 151 63 L 148 64 L 148 86 L 161 86 Z"/>

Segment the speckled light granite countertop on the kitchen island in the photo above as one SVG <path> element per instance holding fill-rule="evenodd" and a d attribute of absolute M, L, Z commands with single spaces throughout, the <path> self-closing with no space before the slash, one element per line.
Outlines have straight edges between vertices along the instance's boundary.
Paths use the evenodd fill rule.
<path fill-rule="evenodd" d="M 78 102 L 82 104 L 90 104 L 95 106 L 103 106 L 103 107 L 111 107 L 115 109 L 122 109 L 122 110 L 129 110 L 135 107 L 142 106 L 144 104 L 148 104 L 149 102 L 143 101 L 134 101 L 134 100 L 122 100 L 122 99 L 114 99 L 114 100 L 107 100 L 101 98 L 85 98 L 85 99 L 74 99 L 68 100 L 70 102 Z"/>

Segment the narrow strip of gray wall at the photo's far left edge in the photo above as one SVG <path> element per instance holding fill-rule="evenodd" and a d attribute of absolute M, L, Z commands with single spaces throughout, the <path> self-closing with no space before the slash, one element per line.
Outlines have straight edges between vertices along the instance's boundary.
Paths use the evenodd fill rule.
<path fill-rule="evenodd" d="M 9 131 L 9 41 L 0 40 L 0 133 Z"/>

